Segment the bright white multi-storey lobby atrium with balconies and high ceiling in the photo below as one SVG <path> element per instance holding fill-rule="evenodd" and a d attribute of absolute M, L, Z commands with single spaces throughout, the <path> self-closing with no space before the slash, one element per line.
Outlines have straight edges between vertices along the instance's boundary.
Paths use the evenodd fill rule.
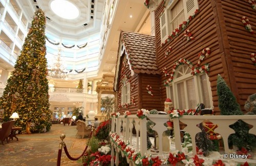
<path fill-rule="evenodd" d="M 23 49 L 34 12 L 40 8 L 46 16 L 51 111 L 67 116 L 80 107 L 84 116 L 90 110 L 100 113 L 97 82 L 104 74 L 115 74 L 120 31 L 152 34 L 152 15 L 143 3 L 0 0 L 0 96 Z M 80 80 L 83 88 L 78 92 Z"/>

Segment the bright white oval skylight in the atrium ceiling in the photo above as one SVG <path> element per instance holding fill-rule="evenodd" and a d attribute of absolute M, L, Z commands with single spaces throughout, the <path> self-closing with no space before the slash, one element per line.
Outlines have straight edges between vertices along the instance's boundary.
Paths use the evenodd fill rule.
<path fill-rule="evenodd" d="M 78 8 L 66 0 L 54 0 L 50 6 L 52 11 L 61 18 L 75 19 L 79 15 Z"/>

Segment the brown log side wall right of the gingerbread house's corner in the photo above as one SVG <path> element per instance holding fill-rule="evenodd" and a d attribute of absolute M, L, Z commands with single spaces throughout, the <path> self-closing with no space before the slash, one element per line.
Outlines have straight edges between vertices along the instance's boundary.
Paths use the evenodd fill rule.
<path fill-rule="evenodd" d="M 225 42 L 228 42 L 230 53 L 228 67 L 233 70 L 233 84 L 237 88 L 241 108 L 244 109 L 248 96 L 256 93 L 256 66 L 250 57 L 252 53 L 256 54 L 256 36 L 253 34 L 256 31 L 256 10 L 247 1 L 219 2 L 226 25 Z M 247 23 L 251 25 L 251 31 L 245 29 Z"/>

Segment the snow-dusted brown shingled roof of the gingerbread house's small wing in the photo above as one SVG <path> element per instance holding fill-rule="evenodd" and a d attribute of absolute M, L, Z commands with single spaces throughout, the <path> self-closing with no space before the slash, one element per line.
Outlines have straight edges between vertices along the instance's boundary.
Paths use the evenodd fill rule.
<path fill-rule="evenodd" d="M 122 32 L 120 40 L 135 73 L 160 74 L 156 61 L 154 36 Z"/>

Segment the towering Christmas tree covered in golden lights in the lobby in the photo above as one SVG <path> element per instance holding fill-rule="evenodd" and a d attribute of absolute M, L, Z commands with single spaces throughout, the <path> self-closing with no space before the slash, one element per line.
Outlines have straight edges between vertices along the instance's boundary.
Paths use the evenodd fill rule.
<path fill-rule="evenodd" d="M 38 9 L 14 71 L 0 98 L 4 121 L 9 121 L 12 113 L 17 112 L 19 119 L 15 125 L 22 127 L 22 133 L 26 132 L 26 125 L 28 127 L 31 123 L 34 125 L 30 130 L 34 132 L 48 131 L 51 128 L 45 27 L 45 14 Z M 27 132 L 30 132 L 28 128 Z"/>

